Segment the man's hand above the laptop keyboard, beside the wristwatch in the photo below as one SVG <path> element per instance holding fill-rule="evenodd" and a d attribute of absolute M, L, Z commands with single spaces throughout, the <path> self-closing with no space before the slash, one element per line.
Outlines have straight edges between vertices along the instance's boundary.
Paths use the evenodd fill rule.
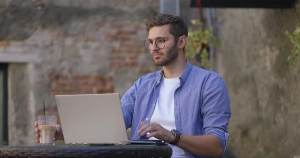
<path fill-rule="evenodd" d="M 160 124 L 145 124 L 144 122 L 141 122 L 140 125 L 141 129 L 137 132 L 138 135 L 143 136 L 149 132 L 150 134 L 146 136 L 147 138 L 155 137 L 164 142 L 172 142 L 175 140 L 175 136 L 172 134 L 172 132 L 163 128 Z"/>

